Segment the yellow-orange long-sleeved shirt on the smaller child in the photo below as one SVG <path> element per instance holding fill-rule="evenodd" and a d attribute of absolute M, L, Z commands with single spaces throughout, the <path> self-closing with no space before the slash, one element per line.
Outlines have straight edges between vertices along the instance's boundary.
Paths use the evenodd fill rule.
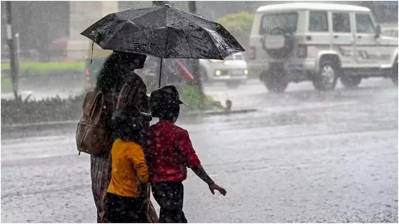
<path fill-rule="evenodd" d="M 140 184 L 147 183 L 149 178 L 142 147 L 132 141 L 118 139 L 111 150 L 112 176 L 107 192 L 138 197 Z"/>

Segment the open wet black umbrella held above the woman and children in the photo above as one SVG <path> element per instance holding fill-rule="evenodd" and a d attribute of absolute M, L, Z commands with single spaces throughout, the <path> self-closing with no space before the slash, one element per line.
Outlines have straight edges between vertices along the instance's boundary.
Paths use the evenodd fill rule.
<path fill-rule="evenodd" d="M 168 5 L 109 14 L 81 35 L 103 49 L 160 57 L 161 71 L 165 58 L 223 60 L 245 51 L 220 24 Z"/>

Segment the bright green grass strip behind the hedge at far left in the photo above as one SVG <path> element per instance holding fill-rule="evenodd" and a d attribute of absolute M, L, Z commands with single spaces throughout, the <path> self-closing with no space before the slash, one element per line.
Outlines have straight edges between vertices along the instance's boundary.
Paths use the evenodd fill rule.
<path fill-rule="evenodd" d="M 32 70 L 38 72 L 85 70 L 85 62 L 20 62 L 20 71 Z M 10 63 L 1 63 L 1 70 L 10 70 Z"/>

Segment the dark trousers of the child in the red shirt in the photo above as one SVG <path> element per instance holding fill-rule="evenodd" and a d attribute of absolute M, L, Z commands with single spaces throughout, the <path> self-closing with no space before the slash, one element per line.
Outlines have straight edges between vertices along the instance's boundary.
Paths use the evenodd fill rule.
<path fill-rule="evenodd" d="M 187 223 L 183 212 L 182 182 L 163 181 L 151 185 L 152 195 L 161 207 L 160 223 Z"/>

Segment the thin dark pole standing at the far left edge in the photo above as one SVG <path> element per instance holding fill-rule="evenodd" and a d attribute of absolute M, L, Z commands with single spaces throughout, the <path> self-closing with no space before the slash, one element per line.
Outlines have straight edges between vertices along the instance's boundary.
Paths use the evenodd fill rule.
<path fill-rule="evenodd" d="M 12 30 L 11 1 L 6 1 L 7 12 L 7 42 L 10 49 L 10 77 L 14 96 L 18 95 L 18 60 L 15 55 L 15 35 Z"/>

